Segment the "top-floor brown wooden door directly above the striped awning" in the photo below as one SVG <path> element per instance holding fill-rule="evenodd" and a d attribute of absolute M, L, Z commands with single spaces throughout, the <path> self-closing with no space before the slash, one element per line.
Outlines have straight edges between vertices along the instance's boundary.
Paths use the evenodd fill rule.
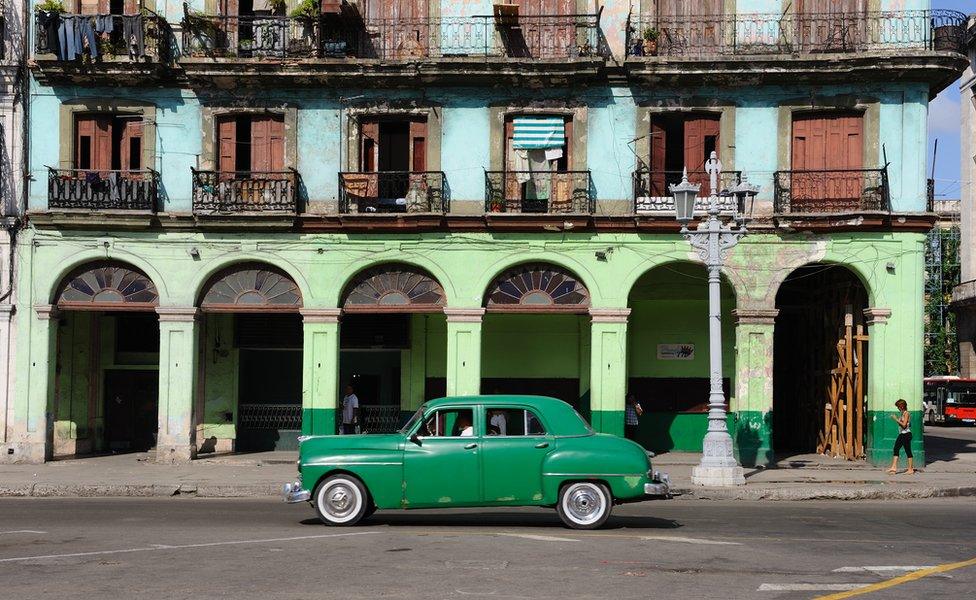
<path fill-rule="evenodd" d="M 518 0 L 519 22 L 516 35 L 523 47 L 516 55 L 533 58 L 569 58 L 576 46 L 576 28 L 570 15 L 576 14 L 574 0 Z M 525 17 L 525 18 L 522 18 Z M 506 44 L 510 42 L 506 40 Z M 510 51 L 510 53 L 512 53 Z"/>

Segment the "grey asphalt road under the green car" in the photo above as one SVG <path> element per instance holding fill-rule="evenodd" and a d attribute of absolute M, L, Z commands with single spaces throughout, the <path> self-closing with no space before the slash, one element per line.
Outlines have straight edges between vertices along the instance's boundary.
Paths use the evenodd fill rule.
<path fill-rule="evenodd" d="M 0 500 L 0 598 L 813 598 L 976 558 L 976 501 L 380 512 L 273 500 Z M 964 598 L 976 564 L 860 598 Z"/>

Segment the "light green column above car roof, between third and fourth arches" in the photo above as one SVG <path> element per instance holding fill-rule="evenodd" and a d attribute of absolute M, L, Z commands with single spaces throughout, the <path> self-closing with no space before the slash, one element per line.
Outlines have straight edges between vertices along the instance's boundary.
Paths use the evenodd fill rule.
<path fill-rule="evenodd" d="M 481 391 L 481 325 L 483 308 L 445 308 L 447 316 L 447 395 L 473 396 Z"/>

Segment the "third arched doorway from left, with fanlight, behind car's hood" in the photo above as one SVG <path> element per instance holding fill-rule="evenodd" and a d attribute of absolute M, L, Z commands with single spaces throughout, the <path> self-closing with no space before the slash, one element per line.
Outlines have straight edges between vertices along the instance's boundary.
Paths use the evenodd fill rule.
<path fill-rule="evenodd" d="M 339 397 L 352 386 L 362 431 L 394 431 L 425 400 L 444 395 L 446 304 L 440 282 L 409 264 L 367 268 L 346 286 Z"/>

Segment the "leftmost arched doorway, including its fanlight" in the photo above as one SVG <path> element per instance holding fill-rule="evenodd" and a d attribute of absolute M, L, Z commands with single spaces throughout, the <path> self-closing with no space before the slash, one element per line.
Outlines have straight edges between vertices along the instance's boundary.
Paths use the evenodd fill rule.
<path fill-rule="evenodd" d="M 71 271 L 54 303 L 55 457 L 147 452 L 159 408 L 159 294 L 139 269 L 99 261 Z"/>

